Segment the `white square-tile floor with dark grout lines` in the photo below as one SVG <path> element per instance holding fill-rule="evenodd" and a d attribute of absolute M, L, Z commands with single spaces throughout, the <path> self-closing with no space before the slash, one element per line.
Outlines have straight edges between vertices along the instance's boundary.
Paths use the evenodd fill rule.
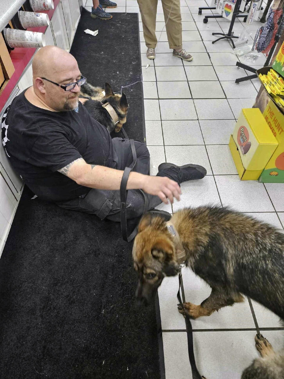
<path fill-rule="evenodd" d="M 117 0 L 113 12 L 137 12 L 135 0 Z M 92 1 L 87 0 L 86 6 Z M 207 1 L 210 6 L 211 1 Z M 145 126 L 147 146 L 151 155 L 151 174 L 155 175 L 162 161 L 203 165 L 208 175 L 203 180 L 183 183 L 180 202 L 159 208 L 176 211 L 187 206 L 204 204 L 229 205 L 264 220 L 283 231 L 283 184 L 262 184 L 239 180 L 229 153 L 228 141 L 242 108 L 250 108 L 257 95 L 257 80 L 236 85 L 237 77 L 247 72 L 236 68 L 239 60 L 229 42 L 215 39 L 212 32 L 228 31 L 225 19 L 203 18 L 211 11 L 198 15 L 204 0 L 181 0 L 184 48 L 193 55 L 192 62 L 172 56 L 162 31 L 164 15 L 158 3 L 156 31 L 162 36 L 156 49 L 156 59 L 149 61 L 140 21 L 141 61 L 143 72 Z M 91 10 L 91 8 L 89 8 Z M 114 15 L 115 17 L 115 15 Z M 262 25 L 254 22 L 251 30 Z M 243 29 L 236 20 L 235 34 Z M 254 36 L 253 36 L 254 37 Z M 265 57 L 254 65 L 262 67 Z M 148 69 L 145 66 L 150 64 Z M 249 63 L 247 63 L 249 65 Z M 241 199 L 241 201 L 240 201 Z M 189 269 L 183 269 L 186 301 L 200 304 L 210 288 Z M 165 378 L 191 378 L 187 356 L 184 318 L 177 311 L 178 278 L 165 278 L 159 288 L 163 331 Z M 251 309 L 254 310 L 255 318 Z M 248 299 L 192 322 L 195 358 L 201 374 L 208 379 L 239 379 L 242 370 L 257 357 L 254 335 L 259 327 L 277 349 L 281 347 L 284 330 L 278 318 L 256 302 Z M 280 329 L 280 330 L 278 330 Z"/>

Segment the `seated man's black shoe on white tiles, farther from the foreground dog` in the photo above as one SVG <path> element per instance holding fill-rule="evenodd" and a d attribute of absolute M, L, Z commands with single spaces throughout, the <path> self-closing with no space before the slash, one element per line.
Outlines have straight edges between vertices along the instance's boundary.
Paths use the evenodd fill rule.
<path fill-rule="evenodd" d="M 206 169 L 198 164 L 177 166 L 173 163 L 161 163 L 158 171 L 158 176 L 167 176 L 178 184 L 187 180 L 202 179 L 207 174 Z"/>

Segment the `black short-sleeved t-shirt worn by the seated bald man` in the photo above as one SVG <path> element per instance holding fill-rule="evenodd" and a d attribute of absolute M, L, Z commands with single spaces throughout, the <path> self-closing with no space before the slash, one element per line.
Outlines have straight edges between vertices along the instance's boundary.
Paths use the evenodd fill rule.
<path fill-rule="evenodd" d="M 27 186 L 48 201 L 89 192 L 57 171 L 77 158 L 115 167 L 111 136 L 80 102 L 74 111 L 52 112 L 32 105 L 22 92 L 2 117 L 2 143 Z"/>

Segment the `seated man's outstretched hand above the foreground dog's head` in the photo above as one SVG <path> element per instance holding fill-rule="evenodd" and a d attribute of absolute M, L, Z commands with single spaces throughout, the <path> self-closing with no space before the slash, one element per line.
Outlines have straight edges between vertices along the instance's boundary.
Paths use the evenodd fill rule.
<path fill-rule="evenodd" d="M 145 175 L 142 185 L 143 191 L 150 195 L 159 196 L 165 204 L 168 199 L 173 204 L 173 198 L 180 200 L 181 188 L 178 183 L 167 178 L 166 176 L 148 176 Z"/>

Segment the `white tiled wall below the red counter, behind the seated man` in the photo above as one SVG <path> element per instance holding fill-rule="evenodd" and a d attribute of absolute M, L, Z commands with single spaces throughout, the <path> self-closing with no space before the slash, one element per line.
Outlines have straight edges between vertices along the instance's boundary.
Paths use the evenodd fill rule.
<path fill-rule="evenodd" d="M 47 45 L 56 45 L 67 51 L 70 50 L 80 20 L 79 5 L 78 0 L 60 1 L 45 31 Z M 3 110 L 0 110 L 0 119 L 12 99 L 32 84 L 33 73 L 30 62 L 12 91 L 10 99 Z M 0 255 L 5 246 L 22 190 L 23 182 L 11 168 L 3 146 L 0 144 Z"/>

